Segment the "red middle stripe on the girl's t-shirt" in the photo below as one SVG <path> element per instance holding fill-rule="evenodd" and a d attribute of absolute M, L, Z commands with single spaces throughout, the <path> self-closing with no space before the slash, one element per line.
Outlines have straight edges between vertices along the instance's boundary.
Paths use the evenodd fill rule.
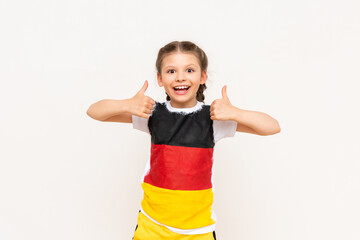
<path fill-rule="evenodd" d="M 151 143 L 150 171 L 144 182 L 172 190 L 211 188 L 213 150 Z"/>

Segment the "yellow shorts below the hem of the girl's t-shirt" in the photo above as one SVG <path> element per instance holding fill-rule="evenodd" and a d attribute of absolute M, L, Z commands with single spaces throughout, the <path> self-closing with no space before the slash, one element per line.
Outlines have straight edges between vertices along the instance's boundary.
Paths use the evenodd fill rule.
<path fill-rule="evenodd" d="M 158 225 L 139 212 L 133 240 L 216 240 L 215 231 L 204 234 L 184 235 Z"/>

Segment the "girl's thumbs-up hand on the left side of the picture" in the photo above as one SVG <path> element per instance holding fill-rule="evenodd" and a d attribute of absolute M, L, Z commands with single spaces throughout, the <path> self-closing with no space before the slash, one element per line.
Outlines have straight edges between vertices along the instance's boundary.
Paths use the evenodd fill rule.
<path fill-rule="evenodd" d="M 129 99 L 129 112 L 133 115 L 149 119 L 152 110 L 154 109 L 155 101 L 145 95 L 148 88 L 148 82 L 145 80 L 141 89 Z"/>

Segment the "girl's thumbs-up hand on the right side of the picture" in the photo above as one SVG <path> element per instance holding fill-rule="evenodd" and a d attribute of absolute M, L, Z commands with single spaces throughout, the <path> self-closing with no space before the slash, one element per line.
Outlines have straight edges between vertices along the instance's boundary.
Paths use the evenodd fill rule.
<path fill-rule="evenodd" d="M 212 120 L 233 120 L 236 108 L 230 103 L 226 92 L 226 85 L 221 90 L 222 98 L 214 100 L 210 105 L 210 118 Z"/>

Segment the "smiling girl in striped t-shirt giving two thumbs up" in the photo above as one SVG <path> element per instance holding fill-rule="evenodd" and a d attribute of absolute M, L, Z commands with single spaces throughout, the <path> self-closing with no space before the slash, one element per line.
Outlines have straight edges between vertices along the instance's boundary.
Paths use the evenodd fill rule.
<path fill-rule="evenodd" d="M 222 98 L 205 105 L 207 56 L 189 41 L 159 50 L 157 81 L 165 102 L 145 95 L 148 82 L 129 99 L 104 99 L 87 114 L 104 122 L 132 123 L 151 137 L 151 155 L 142 177 L 144 197 L 133 239 L 216 239 L 213 204 L 213 149 L 235 132 L 261 136 L 280 132 L 278 122 L 261 112 Z"/>

